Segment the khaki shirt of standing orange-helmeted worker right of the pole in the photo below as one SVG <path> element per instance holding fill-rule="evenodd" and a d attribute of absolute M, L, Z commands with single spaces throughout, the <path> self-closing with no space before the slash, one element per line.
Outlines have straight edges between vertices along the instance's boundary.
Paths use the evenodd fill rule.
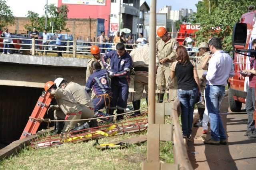
<path fill-rule="evenodd" d="M 162 39 L 156 42 L 156 56 L 159 60 L 168 57 L 170 61 L 165 62 L 164 67 L 169 67 L 176 58 L 176 40 L 170 38 L 167 42 L 164 42 Z"/>

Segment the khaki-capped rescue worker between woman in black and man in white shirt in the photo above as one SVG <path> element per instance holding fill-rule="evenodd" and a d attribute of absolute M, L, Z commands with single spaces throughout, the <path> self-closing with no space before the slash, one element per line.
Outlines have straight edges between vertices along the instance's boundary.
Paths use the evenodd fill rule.
<path fill-rule="evenodd" d="M 198 76 L 200 79 L 200 86 L 201 86 L 202 102 L 198 102 L 196 104 L 199 118 L 198 118 L 198 122 L 194 124 L 194 127 L 202 127 L 202 120 L 203 120 L 203 115 L 205 110 L 204 89 L 206 87 L 206 79 L 203 77 L 203 75 L 208 68 L 208 66 L 206 66 L 205 68 L 202 68 L 202 64 L 204 63 L 206 58 L 208 58 L 208 56 L 210 55 L 210 49 L 206 42 L 201 42 L 198 46 L 198 50 L 199 50 L 199 56 L 202 56 L 197 64 L 197 72 L 198 72 Z"/>

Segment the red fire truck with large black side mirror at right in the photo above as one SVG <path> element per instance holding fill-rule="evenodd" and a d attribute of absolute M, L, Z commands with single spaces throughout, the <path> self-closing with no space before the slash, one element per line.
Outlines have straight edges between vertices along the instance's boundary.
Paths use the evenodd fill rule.
<path fill-rule="evenodd" d="M 240 112 L 242 103 L 246 102 L 246 86 L 249 78 L 239 71 L 250 69 L 250 57 L 256 50 L 252 49 L 252 40 L 256 38 L 256 10 L 245 13 L 233 29 L 232 45 L 235 76 L 229 79 L 228 103 L 232 112 Z"/>

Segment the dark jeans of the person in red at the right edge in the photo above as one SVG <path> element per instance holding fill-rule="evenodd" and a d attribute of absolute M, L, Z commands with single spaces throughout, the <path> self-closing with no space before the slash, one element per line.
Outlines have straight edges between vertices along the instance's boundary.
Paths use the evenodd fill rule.
<path fill-rule="evenodd" d="M 253 131 L 255 121 L 253 120 L 253 112 L 255 110 L 255 88 L 247 86 L 246 94 L 246 112 L 248 116 L 247 131 Z"/>

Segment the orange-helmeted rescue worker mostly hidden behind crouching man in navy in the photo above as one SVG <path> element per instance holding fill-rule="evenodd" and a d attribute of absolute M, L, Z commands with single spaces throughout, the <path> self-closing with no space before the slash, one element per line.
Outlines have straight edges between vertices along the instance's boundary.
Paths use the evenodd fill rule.
<path fill-rule="evenodd" d="M 100 60 L 100 48 L 96 45 L 93 45 L 90 49 L 91 51 L 91 54 L 93 55 L 93 58 L 90 59 L 87 63 L 87 68 L 86 68 L 86 82 L 88 81 L 88 78 L 89 76 L 93 73 L 93 70 L 92 70 L 92 62 L 93 61 L 98 61 L 100 62 L 100 65 L 102 66 L 103 68 L 103 64 L 102 64 L 102 61 Z M 89 93 L 90 94 L 90 93 Z M 96 95 L 92 92 L 91 93 L 91 99 L 95 98 Z"/>

